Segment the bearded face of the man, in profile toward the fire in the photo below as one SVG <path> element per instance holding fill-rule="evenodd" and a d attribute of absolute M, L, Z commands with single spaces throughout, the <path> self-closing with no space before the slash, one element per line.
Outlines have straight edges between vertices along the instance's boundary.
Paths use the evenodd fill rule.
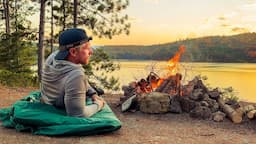
<path fill-rule="evenodd" d="M 88 64 L 93 51 L 90 42 L 86 42 L 78 49 L 77 60 L 80 64 Z"/>

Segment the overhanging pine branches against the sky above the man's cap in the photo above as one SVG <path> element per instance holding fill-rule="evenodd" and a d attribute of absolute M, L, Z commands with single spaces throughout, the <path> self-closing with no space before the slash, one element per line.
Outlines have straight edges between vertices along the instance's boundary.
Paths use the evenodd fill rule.
<path fill-rule="evenodd" d="M 128 35 L 131 26 L 128 15 L 121 13 L 128 5 L 128 0 L 79 0 L 77 24 L 100 38 Z M 53 18 L 62 30 L 73 27 L 73 7 L 73 1 L 54 1 Z"/>

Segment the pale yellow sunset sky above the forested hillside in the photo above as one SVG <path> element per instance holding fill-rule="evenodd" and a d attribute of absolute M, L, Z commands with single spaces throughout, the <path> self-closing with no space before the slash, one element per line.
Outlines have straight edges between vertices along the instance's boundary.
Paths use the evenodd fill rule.
<path fill-rule="evenodd" d="M 130 0 L 130 35 L 94 36 L 95 45 L 152 45 L 256 32 L 256 0 Z"/>

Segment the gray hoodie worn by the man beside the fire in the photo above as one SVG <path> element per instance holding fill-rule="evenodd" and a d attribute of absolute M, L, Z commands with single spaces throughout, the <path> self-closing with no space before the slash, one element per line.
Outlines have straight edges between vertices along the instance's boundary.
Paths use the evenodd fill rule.
<path fill-rule="evenodd" d="M 58 51 L 45 62 L 42 73 L 42 101 L 65 108 L 67 115 L 90 117 L 99 111 L 97 104 L 86 105 L 86 91 L 90 88 L 84 69 L 80 64 L 55 60 Z"/>

